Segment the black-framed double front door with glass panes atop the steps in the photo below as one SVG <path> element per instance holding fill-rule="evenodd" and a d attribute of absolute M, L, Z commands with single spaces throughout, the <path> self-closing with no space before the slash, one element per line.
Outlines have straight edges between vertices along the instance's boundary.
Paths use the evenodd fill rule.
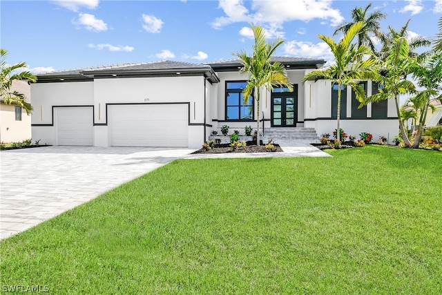
<path fill-rule="evenodd" d="M 294 92 L 275 92 L 280 88 L 275 88 L 271 93 L 271 126 L 272 127 L 296 127 L 298 121 L 298 97 L 297 88 Z"/>

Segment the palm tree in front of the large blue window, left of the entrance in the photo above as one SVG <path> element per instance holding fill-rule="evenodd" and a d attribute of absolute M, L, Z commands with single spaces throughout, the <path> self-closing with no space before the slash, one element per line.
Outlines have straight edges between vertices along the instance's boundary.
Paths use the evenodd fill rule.
<path fill-rule="evenodd" d="M 249 101 L 249 97 L 253 95 L 256 100 L 257 108 L 257 137 L 256 145 L 260 145 L 260 95 L 261 88 L 267 91 L 273 90 L 273 86 L 285 86 L 292 89 L 293 86 L 289 82 L 289 78 L 285 73 L 285 67 L 280 62 L 271 62 L 271 57 L 275 53 L 276 48 L 284 41 L 276 39 L 271 43 L 265 40 L 265 31 L 260 26 L 253 26 L 253 35 L 255 36 L 255 44 L 253 45 L 253 54 L 251 56 L 242 50 L 233 55 L 239 57 L 242 61 L 240 73 L 247 74 L 247 86 L 242 93 L 244 94 L 244 102 Z"/>

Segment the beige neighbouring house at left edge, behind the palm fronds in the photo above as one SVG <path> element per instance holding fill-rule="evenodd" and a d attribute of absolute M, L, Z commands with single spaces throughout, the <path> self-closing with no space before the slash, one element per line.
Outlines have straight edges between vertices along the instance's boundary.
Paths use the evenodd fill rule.
<path fill-rule="evenodd" d="M 14 80 L 10 91 L 17 91 L 30 102 L 30 86 L 26 81 Z M 5 104 L 0 97 L 0 142 L 21 142 L 31 138 L 31 116 L 15 104 Z"/>

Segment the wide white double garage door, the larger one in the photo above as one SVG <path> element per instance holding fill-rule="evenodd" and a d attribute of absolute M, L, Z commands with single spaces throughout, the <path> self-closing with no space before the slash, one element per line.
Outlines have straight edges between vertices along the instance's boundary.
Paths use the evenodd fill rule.
<path fill-rule="evenodd" d="M 111 146 L 188 146 L 186 104 L 108 106 Z"/>

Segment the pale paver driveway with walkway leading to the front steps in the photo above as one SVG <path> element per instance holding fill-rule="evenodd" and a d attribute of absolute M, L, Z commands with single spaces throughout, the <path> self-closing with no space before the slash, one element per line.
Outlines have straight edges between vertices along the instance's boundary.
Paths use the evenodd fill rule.
<path fill-rule="evenodd" d="M 0 152 L 0 239 L 96 198 L 177 158 L 329 156 L 309 145 L 285 153 L 191 155 L 193 149 L 45 146 Z"/>

